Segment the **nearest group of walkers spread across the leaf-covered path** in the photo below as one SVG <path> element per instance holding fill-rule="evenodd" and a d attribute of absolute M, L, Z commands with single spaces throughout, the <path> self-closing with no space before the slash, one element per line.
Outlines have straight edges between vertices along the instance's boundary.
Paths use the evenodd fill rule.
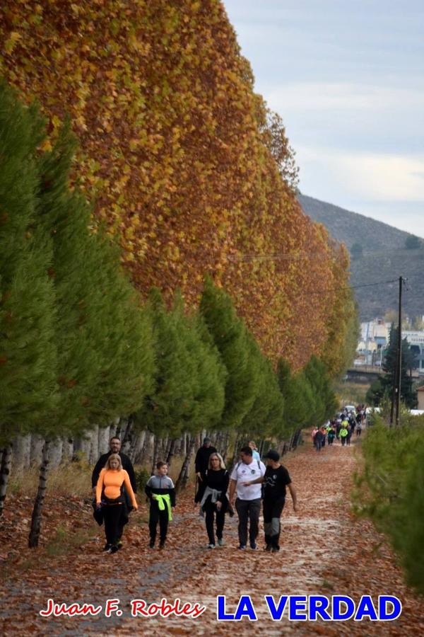
<path fill-rule="evenodd" d="M 119 438 L 112 437 L 110 451 L 103 454 L 95 465 L 92 475 L 95 495 L 94 517 L 99 524 L 105 523 L 106 543 L 104 551 L 116 553 L 122 547 L 122 532 L 129 520 L 129 512 L 137 510 L 136 477 L 131 460 L 121 451 Z M 285 505 L 286 489 L 290 491 L 293 509 L 297 510 L 295 488 L 287 469 L 280 463 L 280 455 L 270 449 L 264 456 L 267 466 L 261 461 L 254 442 L 249 442 L 239 452 L 240 460 L 231 474 L 225 467 L 211 440 L 206 437 L 196 454 L 195 503 L 204 515 L 208 535 L 208 549 L 225 544 L 223 532 L 225 515 L 238 516 L 238 549 L 258 550 L 259 515 L 264 516 L 264 539 L 266 551 L 280 550 L 280 518 Z M 155 546 L 159 524 L 159 548 L 165 547 L 168 523 L 175 507 L 175 487 L 167 476 L 167 464 L 158 461 L 155 475 L 146 483 L 145 493 L 150 501 L 149 532 L 151 549 Z M 217 542 L 216 542 L 217 540 Z"/>

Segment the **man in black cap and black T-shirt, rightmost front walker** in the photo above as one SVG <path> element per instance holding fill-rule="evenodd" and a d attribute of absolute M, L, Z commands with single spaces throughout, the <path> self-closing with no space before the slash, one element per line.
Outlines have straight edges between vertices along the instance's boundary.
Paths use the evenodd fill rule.
<path fill-rule="evenodd" d="M 285 466 L 280 464 L 280 454 L 276 449 L 269 449 L 265 458 L 268 460 L 265 475 L 245 486 L 264 482 L 264 531 L 265 550 L 276 553 L 280 550 L 280 518 L 285 504 L 285 487 L 288 486 L 293 500 L 293 510 L 298 510 L 295 488 Z"/>

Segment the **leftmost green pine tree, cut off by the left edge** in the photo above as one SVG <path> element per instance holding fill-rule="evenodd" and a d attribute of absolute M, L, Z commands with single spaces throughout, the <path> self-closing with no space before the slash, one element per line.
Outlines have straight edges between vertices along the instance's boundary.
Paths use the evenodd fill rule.
<path fill-rule="evenodd" d="M 42 129 L 37 109 L 0 84 L 0 515 L 11 440 L 44 424 L 57 400 L 52 241 L 35 227 Z"/>

